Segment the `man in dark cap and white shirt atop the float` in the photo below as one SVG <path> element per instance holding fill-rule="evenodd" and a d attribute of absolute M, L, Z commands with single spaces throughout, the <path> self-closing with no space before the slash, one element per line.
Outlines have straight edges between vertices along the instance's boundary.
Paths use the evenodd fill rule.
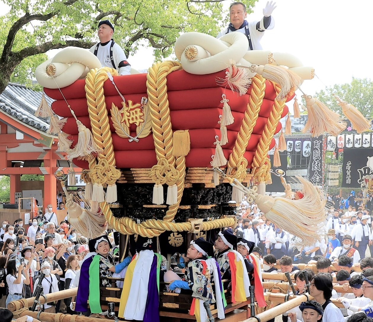
<path fill-rule="evenodd" d="M 112 39 L 114 27 L 109 20 L 102 20 L 98 23 L 97 34 L 100 42 L 92 46 L 90 52 L 97 56 L 102 67 L 115 68 L 119 75 L 130 75 L 131 65 L 123 49 Z"/>

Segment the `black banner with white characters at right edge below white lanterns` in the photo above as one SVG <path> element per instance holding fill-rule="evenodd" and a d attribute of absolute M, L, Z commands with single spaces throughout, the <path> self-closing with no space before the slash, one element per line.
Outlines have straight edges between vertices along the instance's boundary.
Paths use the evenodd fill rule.
<path fill-rule="evenodd" d="M 373 148 L 344 149 L 342 171 L 342 187 L 366 187 L 373 178 Z"/>

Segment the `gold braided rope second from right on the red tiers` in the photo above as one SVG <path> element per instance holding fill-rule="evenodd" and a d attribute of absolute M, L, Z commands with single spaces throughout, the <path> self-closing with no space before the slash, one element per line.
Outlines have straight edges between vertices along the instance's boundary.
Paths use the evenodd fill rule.
<path fill-rule="evenodd" d="M 229 156 L 228 167 L 235 168 L 238 160 L 244 156 L 248 142 L 256 125 L 261 104 L 263 103 L 266 91 L 266 79 L 260 75 L 255 75 L 252 79 L 250 98 L 247 103 L 244 118 L 237 134 L 235 145 Z"/>

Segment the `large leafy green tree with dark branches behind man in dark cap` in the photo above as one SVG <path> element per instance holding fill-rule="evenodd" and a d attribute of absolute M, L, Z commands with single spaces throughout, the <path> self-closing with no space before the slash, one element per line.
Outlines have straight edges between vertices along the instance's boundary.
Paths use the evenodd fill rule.
<path fill-rule="evenodd" d="M 187 31 L 216 35 L 229 19 L 228 0 L 3 0 L 9 6 L 0 31 L 0 93 L 9 80 L 25 83 L 48 50 L 90 48 L 97 24 L 109 19 L 114 39 L 134 54 L 142 44 L 158 59 L 172 53 L 176 38 Z M 257 0 L 246 1 L 248 12 Z M 227 2 L 228 3 L 228 2 Z"/>

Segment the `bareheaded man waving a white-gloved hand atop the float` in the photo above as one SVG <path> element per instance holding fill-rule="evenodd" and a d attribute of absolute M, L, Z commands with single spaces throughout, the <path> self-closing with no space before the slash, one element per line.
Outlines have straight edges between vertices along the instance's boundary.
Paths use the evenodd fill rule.
<path fill-rule="evenodd" d="M 258 50 L 263 49 L 260 45 L 261 37 L 263 37 L 263 32 L 268 29 L 273 29 L 275 26 L 275 21 L 272 18 L 272 12 L 276 8 L 276 3 L 271 1 L 267 2 L 266 7 L 263 9 L 264 17 L 256 22 L 248 22 L 246 19 L 247 12 L 246 6 L 242 2 L 234 2 L 229 7 L 229 15 L 231 17 L 231 23 L 229 23 L 228 28 L 220 31 L 216 38 L 220 38 L 228 32 L 238 31 L 245 34 L 249 41 L 248 50 Z"/>

